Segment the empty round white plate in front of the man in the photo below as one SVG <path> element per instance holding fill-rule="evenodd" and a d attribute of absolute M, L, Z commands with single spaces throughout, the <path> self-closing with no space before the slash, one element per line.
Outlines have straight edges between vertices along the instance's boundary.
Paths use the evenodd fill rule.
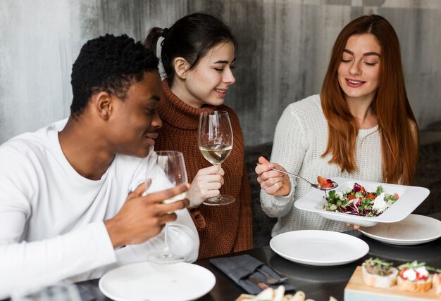
<path fill-rule="evenodd" d="M 196 264 L 138 262 L 108 271 L 99 289 L 116 301 L 195 300 L 215 283 L 213 273 Z"/>

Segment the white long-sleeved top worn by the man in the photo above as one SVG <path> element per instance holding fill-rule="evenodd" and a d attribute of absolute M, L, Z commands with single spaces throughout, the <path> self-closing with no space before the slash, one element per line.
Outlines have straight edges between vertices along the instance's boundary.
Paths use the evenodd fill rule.
<path fill-rule="evenodd" d="M 103 222 L 156 168 L 147 160 L 150 155 L 116 155 L 101 179 L 86 179 L 63 155 L 58 130 L 64 124 L 66 120 L 0 146 L 0 299 L 65 278 L 98 278 L 163 248 L 161 233 L 114 250 Z M 153 190 L 158 190 L 154 183 Z M 170 250 L 192 262 L 199 236 L 188 210 L 176 213 L 178 219 L 169 226 Z"/>

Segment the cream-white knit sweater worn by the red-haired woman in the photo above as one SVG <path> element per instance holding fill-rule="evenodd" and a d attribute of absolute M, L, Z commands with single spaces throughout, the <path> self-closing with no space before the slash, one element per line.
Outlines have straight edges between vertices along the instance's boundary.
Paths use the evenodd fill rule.
<path fill-rule="evenodd" d="M 332 139 L 332 138 L 331 138 Z M 378 126 L 360 129 L 356 138 L 355 172 L 340 172 L 340 167 L 329 164 L 331 156 L 322 158 L 328 145 L 328 122 L 321 108 L 320 96 L 313 95 L 287 106 L 275 129 L 271 162 L 299 174 L 311 183 L 317 176 L 347 177 L 364 181 L 382 181 L 382 155 Z M 272 236 L 293 230 L 348 231 L 342 222 L 325 219 L 313 212 L 299 210 L 294 201 L 307 193 L 311 186 L 306 181 L 291 181 L 291 192 L 285 197 L 269 196 L 261 191 L 261 205 L 269 217 L 278 217 Z"/>

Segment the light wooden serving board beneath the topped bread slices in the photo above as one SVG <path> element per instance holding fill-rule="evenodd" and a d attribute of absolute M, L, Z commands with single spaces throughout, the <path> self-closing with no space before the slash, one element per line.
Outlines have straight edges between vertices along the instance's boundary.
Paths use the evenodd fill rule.
<path fill-rule="evenodd" d="M 401 301 L 401 300 L 437 300 L 441 298 L 435 295 L 431 288 L 426 292 L 405 292 L 399 290 L 398 286 L 391 288 L 373 288 L 366 286 L 361 273 L 361 267 L 356 267 L 346 288 L 344 288 L 344 301 Z"/>

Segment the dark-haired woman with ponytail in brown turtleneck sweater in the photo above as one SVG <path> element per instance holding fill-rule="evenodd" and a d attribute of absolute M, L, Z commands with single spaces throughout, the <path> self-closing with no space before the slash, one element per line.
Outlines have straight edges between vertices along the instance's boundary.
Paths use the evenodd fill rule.
<path fill-rule="evenodd" d="M 200 238 L 199 258 L 252 248 L 251 193 L 244 163 L 244 141 L 236 113 L 223 104 L 232 75 L 237 42 L 218 18 L 194 13 L 170 28 L 153 27 L 144 45 L 156 50 L 166 73 L 157 107 L 163 126 L 155 150 L 181 151 L 191 183 L 190 214 Z M 212 166 L 199 151 L 197 128 L 202 112 L 230 115 L 234 145 L 222 167 Z M 235 198 L 223 206 L 201 205 L 219 193 Z"/>

